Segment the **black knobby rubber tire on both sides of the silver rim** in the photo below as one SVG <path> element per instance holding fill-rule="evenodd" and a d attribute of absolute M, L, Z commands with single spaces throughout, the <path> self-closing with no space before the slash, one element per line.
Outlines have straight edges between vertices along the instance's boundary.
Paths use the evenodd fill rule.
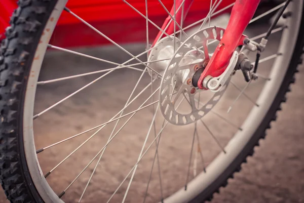
<path fill-rule="evenodd" d="M 1 46 L 0 58 L 0 180 L 3 189 L 11 202 L 44 202 L 37 192 L 28 171 L 22 133 L 23 104 L 27 77 L 33 61 L 34 52 L 39 43 L 43 29 L 53 11 L 57 0 L 21 0 L 19 8 L 11 18 L 11 27 L 6 31 L 6 39 Z M 304 18 L 302 16 L 302 21 Z M 276 119 L 276 112 L 286 101 L 285 94 L 294 83 L 294 74 L 301 62 L 300 56 L 304 46 L 304 24 L 301 23 L 296 47 L 288 71 L 272 107 L 263 119 L 250 142 L 239 156 L 207 189 L 198 195 L 193 202 L 210 200 L 214 192 L 227 184 L 235 172 L 240 171 L 246 157 L 253 154 L 254 146 L 271 121 Z"/>

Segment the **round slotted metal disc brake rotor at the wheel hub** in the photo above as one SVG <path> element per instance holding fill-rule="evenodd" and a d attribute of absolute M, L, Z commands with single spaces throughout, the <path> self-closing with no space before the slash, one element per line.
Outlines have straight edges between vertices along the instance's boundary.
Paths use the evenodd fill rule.
<path fill-rule="evenodd" d="M 209 101 L 199 108 L 199 105 L 196 105 L 198 103 L 198 96 L 196 95 L 202 92 L 201 96 L 204 96 L 203 92 L 206 92 L 206 90 L 197 88 L 197 81 L 195 84 L 194 80 L 203 71 L 212 54 L 208 52 L 208 43 L 210 44 L 210 41 L 212 43 L 213 40 L 220 41 L 223 32 L 224 29 L 220 27 L 208 27 L 199 30 L 179 46 L 171 57 L 171 61 L 167 63 L 161 81 L 159 102 L 161 112 L 169 123 L 187 125 L 195 122 L 206 115 L 225 92 L 230 79 L 227 80 L 219 92 L 214 93 Z M 169 40 L 172 39 L 169 38 Z M 191 112 L 184 113 L 176 109 L 176 103 L 182 97 L 185 97 L 183 99 L 186 99 L 191 106 Z"/>

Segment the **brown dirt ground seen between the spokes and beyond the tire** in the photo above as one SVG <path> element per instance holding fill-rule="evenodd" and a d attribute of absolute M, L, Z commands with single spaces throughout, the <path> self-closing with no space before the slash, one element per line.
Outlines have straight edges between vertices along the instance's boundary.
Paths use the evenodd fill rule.
<path fill-rule="evenodd" d="M 261 32 L 260 30 L 253 29 L 252 34 L 255 33 Z M 269 51 L 266 51 L 264 56 L 269 56 L 271 50 L 276 50 L 277 44 L 278 36 L 270 42 Z M 132 53 L 136 55 L 136 53 L 140 53 L 143 50 L 143 45 L 129 45 L 127 48 L 128 50 L 132 50 Z M 124 62 L 129 58 L 114 47 L 90 50 L 82 49 L 78 51 L 118 63 Z M 145 59 L 142 58 L 142 60 Z M 260 73 L 267 75 L 270 69 L 267 67 L 268 65 L 269 63 L 264 63 L 262 66 L 264 69 L 261 67 Z M 104 63 L 99 61 L 62 52 L 50 52 L 45 59 L 40 80 L 96 71 L 105 67 L 109 66 L 105 66 Z M 272 129 L 267 133 L 267 139 L 260 142 L 260 146 L 256 148 L 254 156 L 248 159 L 246 165 L 243 165 L 241 173 L 236 174 L 234 179 L 229 180 L 229 185 L 226 188 L 222 188 L 220 194 L 215 194 L 212 200 L 213 203 L 304 202 L 303 67 L 299 70 L 300 72 L 296 75 L 297 82 L 292 86 L 292 92 L 288 94 L 288 103 L 283 105 L 283 111 L 279 113 L 276 123 L 272 124 Z M 123 108 L 132 91 L 131 87 L 134 87 L 140 74 L 141 72 L 139 71 L 128 69 L 115 71 L 36 119 L 34 121 L 36 149 L 78 134 L 110 119 L 111 116 Z M 39 87 L 35 101 L 35 113 L 53 105 L 100 75 L 79 77 Z M 149 81 L 150 78 L 146 74 L 134 94 L 138 94 Z M 234 82 L 241 88 L 246 85 L 241 74 L 237 74 Z M 254 84 L 254 86 L 246 90 L 246 94 L 250 95 L 252 99 L 257 98 L 264 80 L 258 79 Z M 154 90 L 157 85 L 154 86 Z M 126 112 L 130 112 L 140 106 L 149 94 L 150 91 L 144 92 L 138 100 L 128 107 Z M 232 112 L 227 114 L 227 108 L 238 94 L 239 92 L 230 86 L 225 93 L 225 97 L 214 108 L 214 111 L 221 113 L 224 117 L 239 126 L 253 104 L 248 102 L 246 97 L 241 96 Z M 154 101 L 156 99 L 157 97 L 154 98 Z M 203 99 L 206 98 L 203 96 Z M 147 103 L 150 102 L 151 100 Z M 186 104 L 184 103 L 183 105 Z M 154 108 L 156 107 L 157 105 L 154 106 Z M 134 116 L 134 119 L 131 119 L 130 123 L 118 134 L 117 138 L 108 145 L 82 202 L 104 202 L 116 190 L 117 186 L 129 173 L 138 159 L 138 154 L 145 140 L 152 115 L 153 109 L 151 107 L 142 110 L 140 113 L 138 112 Z M 117 130 L 121 128 L 127 118 L 123 118 L 120 121 Z M 213 121 L 215 119 L 217 119 L 216 123 Z M 224 120 L 218 120 L 218 117 L 214 114 L 207 114 L 204 120 L 223 146 L 236 132 L 234 127 L 227 124 Z M 162 123 L 162 115 L 159 112 L 156 116 L 157 132 L 161 129 Z M 71 155 L 48 177 L 48 182 L 57 194 L 65 189 L 82 169 L 86 167 L 95 154 L 100 151 L 111 134 L 113 125 L 110 124 L 100 131 L 100 133 L 94 136 L 75 154 Z M 40 153 L 38 157 L 43 172 L 47 173 L 50 171 L 95 131 L 86 133 Z M 161 169 L 164 197 L 183 187 L 186 182 L 193 132 L 194 125 L 184 127 L 168 125 L 163 133 L 164 135 L 159 146 L 159 166 Z M 189 170 L 189 180 L 195 176 L 195 161 L 197 162 L 197 173 L 202 172 L 203 164 L 208 165 L 221 152 L 220 147 L 214 142 L 201 123 L 198 123 L 198 133 L 200 136 L 200 147 L 204 155 L 204 163 L 200 158 L 197 158 L 199 157 L 196 153 L 198 142 L 195 140 L 195 152 Z M 144 150 L 153 141 L 154 136 L 154 130 L 152 129 Z M 155 145 L 145 154 L 138 165 L 126 202 L 142 202 L 154 155 Z M 66 202 L 77 202 L 79 200 L 96 165 L 96 160 L 67 190 L 67 193 L 63 196 L 63 200 Z M 157 202 L 160 200 L 161 189 L 157 162 L 151 176 L 146 202 Z M 128 180 L 130 180 L 130 177 Z M 127 186 L 128 183 L 124 183 L 111 202 L 120 202 Z M 0 199 L 0 202 L 8 202 L 3 192 Z"/>

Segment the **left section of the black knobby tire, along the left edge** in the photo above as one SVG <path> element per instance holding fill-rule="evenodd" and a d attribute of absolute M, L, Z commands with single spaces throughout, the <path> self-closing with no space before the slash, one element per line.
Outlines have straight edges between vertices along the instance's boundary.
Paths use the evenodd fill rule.
<path fill-rule="evenodd" d="M 22 116 L 27 76 L 43 29 L 57 3 L 21 0 L 1 45 L 0 180 L 14 203 L 44 202 L 29 174 L 23 147 Z"/>

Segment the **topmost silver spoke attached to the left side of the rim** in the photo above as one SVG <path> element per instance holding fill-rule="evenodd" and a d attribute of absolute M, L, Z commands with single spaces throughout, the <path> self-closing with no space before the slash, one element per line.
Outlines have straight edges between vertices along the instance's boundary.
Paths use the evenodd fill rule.
<path fill-rule="evenodd" d="M 102 33 L 101 31 L 99 31 L 98 29 L 96 29 L 94 26 L 92 26 L 91 24 L 89 24 L 87 21 L 85 21 L 84 19 L 82 19 L 78 15 L 74 14 L 73 12 L 71 12 L 68 8 L 65 7 L 64 10 L 67 11 L 68 13 L 70 13 L 72 16 L 74 16 L 78 20 L 80 20 L 81 22 L 83 22 L 85 25 L 87 25 L 88 27 L 90 27 L 92 30 L 94 30 L 95 32 L 97 32 L 98 34 L 100 34 L 101 36 L 103 36 L 104 38 L 106 38 L 107 40 L 109 40 L 109 42 L 111 42 L 113 45 L 115 45 L 118 48 L 120 48 L 122 51 L 124 51 L 126 54 L 130 55 L 132 58 L 134 58 L 135 60 L 137 60 L 139 63 L 141 63 L 142 65 L 144 65 L 145 67 L 149 68 L 151 71 L 155 72 L 156 74 L 158 74 L 159 76 L 162 77 L 162 75 L 160 73 L 158 73 L 156 70 L 154 70 L 153 68 L 151 68 L 148 65 L 146 65 L 145 63 L 143 63 L 136 56 L 134 56 L 133 54 L 131 54 L 130 52 L 128 52 L 126 49 L 124 49 L 122 46 L 120 46 L 119 44 L 117 44 L 116 42 L 114 42 L 112 39 L 110 39 L 104 33 Z"/>

